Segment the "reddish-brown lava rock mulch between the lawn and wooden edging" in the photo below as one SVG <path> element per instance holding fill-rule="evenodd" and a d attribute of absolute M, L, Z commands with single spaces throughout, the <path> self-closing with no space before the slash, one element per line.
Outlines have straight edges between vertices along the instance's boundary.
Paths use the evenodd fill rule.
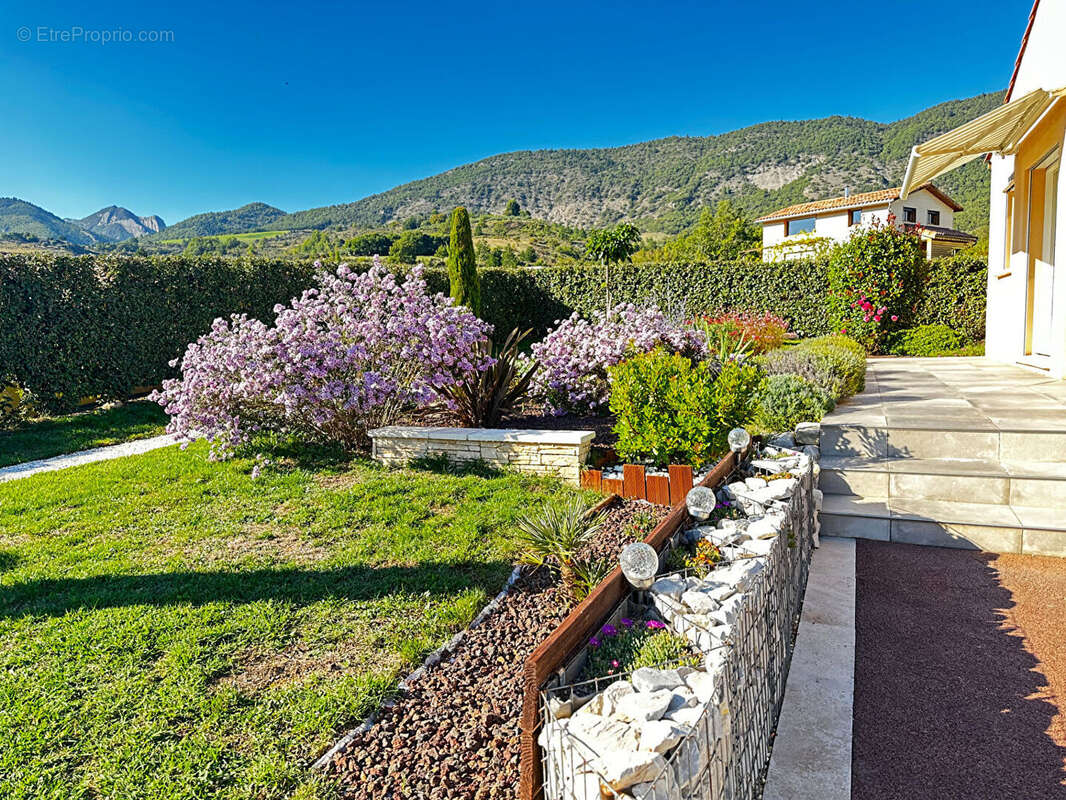
<path fill-rule="evenodd" d="M 619 502 L 581 555 L 615 558 L 668 512 L 662 506 Z M 547 570 L 519 578 L 451 658 L 409 682 L 406 695 L 383 708 L 368 731 L 334 756 L 326 772 L 340 779 L 340 796 L 514 798 L 522 666 L 571 608 Z"/>

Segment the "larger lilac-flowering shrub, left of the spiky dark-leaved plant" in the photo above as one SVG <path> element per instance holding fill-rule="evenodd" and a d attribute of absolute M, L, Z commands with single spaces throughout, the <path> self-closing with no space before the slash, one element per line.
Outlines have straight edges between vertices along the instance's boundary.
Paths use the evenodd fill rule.
<path fill-rule="evenodd" d="M 323 271 L 318 284 L 275 306 L 273 325 L 216 319 L 172 362 L 181 377 L 154 396 L 167 430 L 206 436 L 215 455 L 263 433 L 365 446 L 368 430 L 447 404 L 442 389 L 491 364 L 481 349 L 491 326 L 430 294 L 421 268 L 398 283 L 375 259 L 362 273 Z"/>

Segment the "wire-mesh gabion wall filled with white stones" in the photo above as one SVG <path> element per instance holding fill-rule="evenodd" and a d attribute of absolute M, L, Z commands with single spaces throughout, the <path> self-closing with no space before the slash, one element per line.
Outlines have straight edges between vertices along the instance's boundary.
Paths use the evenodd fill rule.
<path fill-rule="evenodd" d="M 786 470 L 793 477 L 766 480 Z M 620 681 L 546 687 L 538 739 L 546 798 L 757 795 L 817 535 L 815 470 L 807 454 L 765 448 L 744 480 L 718 490 L 743 518 L 694 524 L 672 541 L 707 539 L 725 556 L 705 575 L 661 575 L 644 593 L 646 615 L 689 640 L 698 669 L 666 665 Z"/>

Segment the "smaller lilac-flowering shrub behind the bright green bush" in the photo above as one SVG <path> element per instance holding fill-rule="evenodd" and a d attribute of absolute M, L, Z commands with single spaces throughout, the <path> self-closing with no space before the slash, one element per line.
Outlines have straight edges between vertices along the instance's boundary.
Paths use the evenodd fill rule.
<path fill-rule="evenodd" d="M 692 357 L 702 356 L 707 345 L 701 333 L 672 322 L 658 308 L 624 304 L 591 320 L 575 313 L 532 347 L 540 371 L 531 393 L 556 414 L 605 411 L 608 368 L 656 348 Z"/>

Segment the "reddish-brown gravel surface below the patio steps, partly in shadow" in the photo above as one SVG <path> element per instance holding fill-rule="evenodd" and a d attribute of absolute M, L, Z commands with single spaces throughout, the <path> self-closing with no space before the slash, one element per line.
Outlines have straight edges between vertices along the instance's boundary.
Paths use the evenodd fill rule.
<path fill-rule="evenodd" d="M 854 800 L 1066 798 L 1066 559 L 859 540 Z"/>

